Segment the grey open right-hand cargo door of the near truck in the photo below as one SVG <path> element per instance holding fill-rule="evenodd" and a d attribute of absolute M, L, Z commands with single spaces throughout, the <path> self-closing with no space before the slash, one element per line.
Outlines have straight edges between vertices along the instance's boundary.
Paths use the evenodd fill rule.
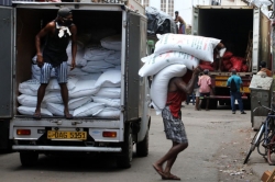
<path fill-rule="evenodd" d="M 141 44 L 142 32 L 140 25 L 140 15 L 128 13 L 127 30 L 127 53 L 125 53 L 125 112 L 127 121 L 136 120 L 139 117 L 140 102 L 140 65 L 141 65 Z M 144 45 L 146 48 L 146 43 Z"/>

